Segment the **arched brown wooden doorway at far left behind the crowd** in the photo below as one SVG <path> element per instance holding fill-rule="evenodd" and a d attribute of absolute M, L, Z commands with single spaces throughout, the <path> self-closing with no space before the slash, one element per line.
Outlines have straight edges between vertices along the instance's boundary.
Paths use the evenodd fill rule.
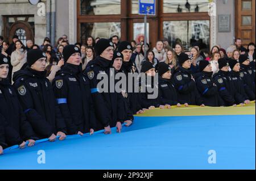
<path fill-rule="evenodd" d="M 17 35 L 24 45 L 26 45 L 27 40 L 34 41 L 34 32 L 32 31 L 32 27 L 29 23 L 24 21 L 18 21 L 12 24 L 10 27 L 9 42 L 13 41 L 12 37 L 14 35 Z"/>

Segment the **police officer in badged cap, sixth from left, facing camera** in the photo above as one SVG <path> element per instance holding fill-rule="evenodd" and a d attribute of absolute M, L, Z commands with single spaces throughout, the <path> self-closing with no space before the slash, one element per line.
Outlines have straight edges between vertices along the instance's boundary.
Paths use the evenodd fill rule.
<path fill-rule="evenodd" d="M 135 80 L 133 80 L 133 83 L 129 83 L 128 77 L 129 74 L 133 74 L 137 72 L 136 66 L 133 61 L 131 61 L 131 54 L 133 53 L 133 47 L 128 41 L 122 41 L 118 45 L 118 51 L 123 54 L 123 64 L 122 64 L 122 72 L 126 74 L 126 90 L 125 94 L 127 95 L 125 100 L 127 107 L 130 109 L 133 114 L 143 113 L 141 104 L 138 102 L 138 92 L 135 92 L 133 90 L 134 85 L 138 83 L 138 76 L 135 77 Z M 129 87 L 133 85 L 133 87 Z M 133 90 L 132 92 L 129 92 L 130 90 Z"/>

